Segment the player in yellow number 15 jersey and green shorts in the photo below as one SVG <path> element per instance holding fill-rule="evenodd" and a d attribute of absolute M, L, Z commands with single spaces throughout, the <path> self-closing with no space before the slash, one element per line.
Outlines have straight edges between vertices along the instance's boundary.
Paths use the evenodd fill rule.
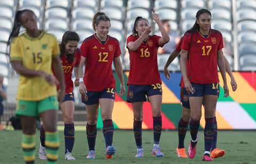
<path fill-rule="evenodd" d="M 26 32 L 20 36 L 20 26 Z M 35 160 L 36 119 L 41 117 L 45 128 L 45 145 L 48 163 L 58 158 L 59 136 L 57 132 L 58 100 L 63 101 L 65 82 L 60 62 L 57 39 L 37 28 L 37 18 L 31 10 L 17 11 L 8 45 L 11 43 L 10 59 L 20 74 L 17 91 L 16 116 L 22 122 L 22 150 L 26 163 Z M 58 80 L 53 76 L 52 65 Z"/>

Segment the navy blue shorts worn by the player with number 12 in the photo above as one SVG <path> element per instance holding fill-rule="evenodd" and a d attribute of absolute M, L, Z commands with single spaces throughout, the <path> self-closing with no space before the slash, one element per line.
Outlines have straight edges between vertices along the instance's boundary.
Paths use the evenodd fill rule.
<path fill-rule="evenodd" d="M 115 89 L 106 88 L 102 92 L 87 91 L 87 96 L 82 95 L 82 102 L 86 105 L 99 103 L 99 99 L 113 99 L 115 100 Z"/>

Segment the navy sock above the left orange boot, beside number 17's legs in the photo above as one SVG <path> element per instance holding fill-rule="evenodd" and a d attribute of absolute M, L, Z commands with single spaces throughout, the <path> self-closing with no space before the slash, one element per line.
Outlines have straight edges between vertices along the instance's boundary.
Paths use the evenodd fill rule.
<path fill-rule="evenodd" d="M 184 140 L 186 137 L 186 133 L 188 130 L 188 124 L 189 122 L 184 121 L 182 118 L 180 118 L 179 124 L 178 124 L 178 136 L 179 136 L 179 146 L 178 148 L 185 148 L 184 146 Z"/>

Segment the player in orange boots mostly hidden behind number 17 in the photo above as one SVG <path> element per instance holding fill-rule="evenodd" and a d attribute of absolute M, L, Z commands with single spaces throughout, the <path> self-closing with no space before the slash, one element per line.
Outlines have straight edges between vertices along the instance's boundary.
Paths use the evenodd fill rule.
<path fill-rule="evenodd" d="M 175 50 L 172 52 L 172 54 L 169 56 L 169 59 L 167 60 L 165 67 L 164 67 L 164 75 L 167 79 L 170 79 L 170 72 L 168 70 L 168 66 L 170 63 L 179 55 L 181 51 L 181 43 L 182 43 L 183 37 L 181 37 L 180 42 L 176 45 Z M 231 71 L 230 65 L 228 63 L 228 60 L 225 56 L 223 56 L 225 60 L 225 69 L 228 72 L 228 75 L 230 76 L 230 84 L 231 88 L 233 89 L 233 92 L 236 91 L 237 83 L 233 76 L 233 73 Z M 188 62 L 187 62 L 187 69 L 188 69 Z M 188 71 L 188 70 L 187 70 Z M 184 146 L 184 140 L 187 133 L 188 124 L 190 121 L 190 105 L 188 100 L 188 92 L 184 88 L 184 81 L 181 77 L 181 83 L 180 83 L 181 89 L 180 89 L 180 100 L 182 103 L 182 114 L 181 118 L 178 124 L 178 136 L 179 136 L 179 145 L 176 149 L 176 152 L 178 154 L 179 158 L 187 158 L 185 146 Z M 214 136 L 213 136 L 213 142 L 211 146 L 211 158 L 219 158 L 222 157 L 222 155 L 225 154 L 224 150 L 220 150 L 217 148 L 217 134 L 218 134 L 218 126 L 217 126 L 217 120 L 216 116 L 214 116 Z"/>

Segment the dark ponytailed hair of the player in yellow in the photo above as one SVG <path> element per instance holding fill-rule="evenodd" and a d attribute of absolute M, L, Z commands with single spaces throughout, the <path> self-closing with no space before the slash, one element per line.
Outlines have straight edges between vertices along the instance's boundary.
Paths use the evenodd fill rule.
<path fill-rule="evenodd" d="M 13 27 L 12 27 L 12 32 L 7 40 L 7 47 L 6 47 L 6 54 L 9 55 L 9 53 L 7 53 L 7 50 L 8 50 L 8 46 L 11 44 L 12 42 L 12 39 L 19 36 L 19 32 L 20 32 L 20 27 L 21 27 L 21 22 L 20 22 L 20 15 L 24 12 L 31 12 L 35 15 L 36 17 L 36 14 L 31 11 L 31 10 L 28 10 L 28 9 L 25 9 L 25 10 L 18 10 L 16 13 L 15 13 L 15 17 L 14 17 L 14 23 L 13 23 Z"/>

